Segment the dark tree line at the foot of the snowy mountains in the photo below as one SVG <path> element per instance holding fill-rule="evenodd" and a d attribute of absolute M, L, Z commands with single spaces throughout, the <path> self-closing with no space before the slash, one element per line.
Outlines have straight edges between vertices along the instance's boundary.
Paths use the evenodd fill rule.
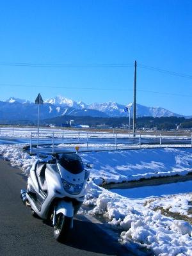
<path fill-rule="evenodd" d="M 106 125 L 111 128 L 129 127 L 129 118 L 127 117 L 92 117 L 92 116 L 57 116 L 40 121 L 40 125 L 65 126 L 70 120 L 73 124 L 89 125 L 92 128 L 98 128 L 98 125 Z M 36 120 L 0 120 L 1 125 L 36 125 Z M 66 125 L 69 126 L 69 125 Z M 132 118 L 131 118 L 132 128 Z M 192 129 L 192 118 L 184 117 L 151 117 L 143 116 L 136 119 L 137 129 Z"/>

